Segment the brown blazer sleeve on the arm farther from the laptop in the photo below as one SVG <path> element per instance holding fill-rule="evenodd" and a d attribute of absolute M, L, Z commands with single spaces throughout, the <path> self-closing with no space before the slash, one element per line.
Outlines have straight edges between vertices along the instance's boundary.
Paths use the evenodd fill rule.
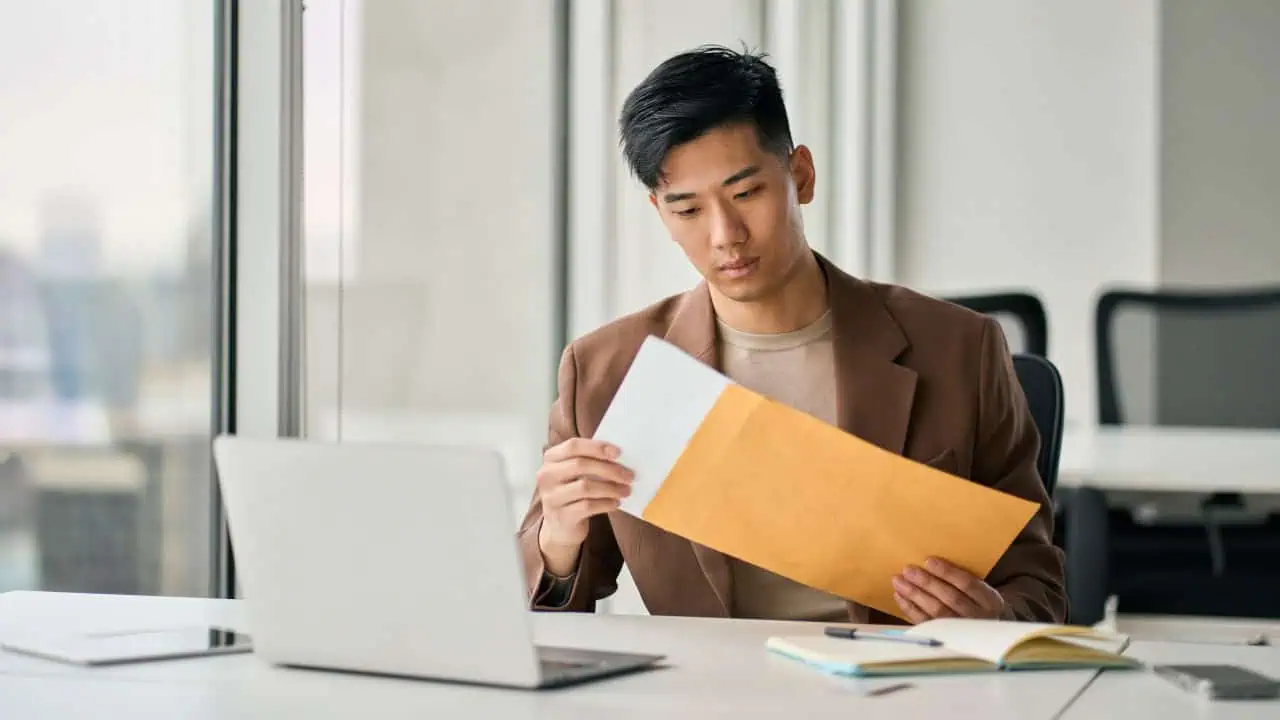
<path fill-rule="evenodd" d="M 1004 596 L 1007 619 L 1065 623 L 1064 556 L 1053 544 L 1053 505 L 1036 469 L 1041 438 L 1005 334 L 991 318 L 982 333 L 979 375 L 974 478 L 1039 505 L 987 582 Z"/>

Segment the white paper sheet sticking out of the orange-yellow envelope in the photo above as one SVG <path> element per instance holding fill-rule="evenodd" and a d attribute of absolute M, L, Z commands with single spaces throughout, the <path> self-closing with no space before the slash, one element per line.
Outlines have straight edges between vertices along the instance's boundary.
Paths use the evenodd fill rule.
<path fill-rule="evenodd" d="M 694 430 L 730 379 L 676 346 L 645 338 L 595 439 L 622 450 L 618 462 L 635 473 L 622 510 L 641 516 L 685 451 Z"/>

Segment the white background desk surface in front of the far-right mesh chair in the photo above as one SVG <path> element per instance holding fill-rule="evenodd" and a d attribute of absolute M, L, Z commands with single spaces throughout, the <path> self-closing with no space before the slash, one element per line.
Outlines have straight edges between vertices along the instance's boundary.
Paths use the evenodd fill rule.
<path fill-rule="evenodd" d="M 1069 430 L 1059 486 L 1280 493 L 1280 430 L 1140 425 Z"/>

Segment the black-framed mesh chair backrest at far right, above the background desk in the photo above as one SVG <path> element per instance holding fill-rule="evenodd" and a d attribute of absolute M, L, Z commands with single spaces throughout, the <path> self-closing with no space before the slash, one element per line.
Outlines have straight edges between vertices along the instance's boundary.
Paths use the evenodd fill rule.
<path fill-rule="evenodd" d="M 1110 291 L 1098 421 L 1280 428 L 1280 287 Z"/>

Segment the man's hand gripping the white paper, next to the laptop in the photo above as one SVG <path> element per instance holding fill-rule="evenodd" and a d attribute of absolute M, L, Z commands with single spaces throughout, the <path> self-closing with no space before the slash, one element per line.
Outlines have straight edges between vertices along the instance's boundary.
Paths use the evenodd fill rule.
<path fill-rule="evenodd" d="M 570 438 L 543 455 L 538 470 L 538 500 L 543 506 L 538 548 L 552 575 L 573 573 L 590 519 L 617 510 L 631 495 L 635 475 L 616 462 L 618 455 L 618 448 L 590 438 Z"/>

